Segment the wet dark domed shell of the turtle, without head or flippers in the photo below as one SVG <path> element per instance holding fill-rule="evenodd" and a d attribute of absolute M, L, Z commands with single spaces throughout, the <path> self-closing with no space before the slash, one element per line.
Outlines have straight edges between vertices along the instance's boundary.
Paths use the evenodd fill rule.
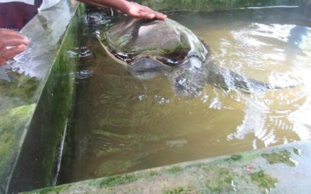
<path fill-rule="evenodd" d="M 166 65 L 180 65 L 189 57 L 205 61 L 207 56 L 205 45 L 193 32 L 168 18 L 128 18 L 101 33 L 100 41 L 127 64 L 148 57 Z"/>

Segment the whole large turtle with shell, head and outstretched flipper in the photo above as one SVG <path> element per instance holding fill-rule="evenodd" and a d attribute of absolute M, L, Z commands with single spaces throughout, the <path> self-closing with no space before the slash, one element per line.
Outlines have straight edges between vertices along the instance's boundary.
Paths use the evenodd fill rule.
<path fill-rule="evenodd" d="M 193 32 L 171 20 L 125 19 L 99 33 L 106 52 L 140 78 L 162 72 L 175 92 L 197 96 L 206 83 L 245 91 L 272 89 L 209 60 L 209 49 Z"/>

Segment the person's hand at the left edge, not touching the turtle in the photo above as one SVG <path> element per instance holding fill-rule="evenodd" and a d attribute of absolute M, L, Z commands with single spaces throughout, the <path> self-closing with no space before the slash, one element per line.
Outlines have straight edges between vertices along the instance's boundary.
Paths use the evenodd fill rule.
<path fill-rule="evenodd" d="M 4 65 L 9 59 L 25 51 L 29 40 L 19 32 L 0 29 L 0 66 Z M 11 48 L 7 48 L 11 47 Z"/>

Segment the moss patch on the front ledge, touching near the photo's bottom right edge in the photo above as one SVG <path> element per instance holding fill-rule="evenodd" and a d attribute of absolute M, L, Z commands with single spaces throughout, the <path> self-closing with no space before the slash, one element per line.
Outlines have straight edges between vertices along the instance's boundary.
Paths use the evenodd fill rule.
<path fill-rule="evenodd" d="M 250 173 L 250 177 L 262 193 L 265 193 L 267 189 L 276 187 L 277 179 L 265 174 L 262 170 L 257 173 Z"/>

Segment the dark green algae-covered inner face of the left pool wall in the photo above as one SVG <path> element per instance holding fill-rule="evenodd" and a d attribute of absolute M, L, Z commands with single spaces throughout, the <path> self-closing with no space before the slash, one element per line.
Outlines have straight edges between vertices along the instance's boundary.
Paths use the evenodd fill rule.
<path fill-rule="evenodd" d="M 83 6 L 78 8 L 81 9 L 83 12 Z M 29 125 L 10 182 L 10 192 L 27 191 L 56 183 L 74 95 L 77 59 L 70 57 L 67 51 L 79 46 L 76 37 L 80 30 L 77 24 L 82 16 L 78 13 L 79 11 L 72 17 L 70 25 L 64 29 L 64 34 L 57 43 L 60 48 L 48 71 Z"/>

